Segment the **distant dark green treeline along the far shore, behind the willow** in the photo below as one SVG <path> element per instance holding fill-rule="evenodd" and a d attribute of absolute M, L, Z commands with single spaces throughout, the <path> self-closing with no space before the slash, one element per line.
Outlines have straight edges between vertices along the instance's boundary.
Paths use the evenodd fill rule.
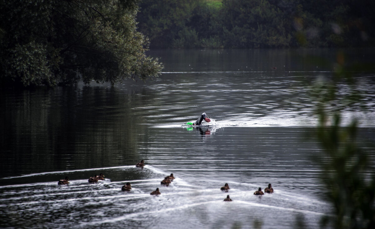
<path fill-rule="evenodd" d="M 374 0 L 142 0 L 158 48 L 375 46 Z"/>

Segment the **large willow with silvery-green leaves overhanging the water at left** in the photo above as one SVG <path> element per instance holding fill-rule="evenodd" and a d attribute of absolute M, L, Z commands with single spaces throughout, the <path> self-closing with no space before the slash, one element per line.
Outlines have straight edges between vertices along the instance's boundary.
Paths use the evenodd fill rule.
<path fill-rule="evenodd" d="M 137 0 L 0 3 L 0 83 L 33 86 L 157 77 L 136 30 Z"/>

